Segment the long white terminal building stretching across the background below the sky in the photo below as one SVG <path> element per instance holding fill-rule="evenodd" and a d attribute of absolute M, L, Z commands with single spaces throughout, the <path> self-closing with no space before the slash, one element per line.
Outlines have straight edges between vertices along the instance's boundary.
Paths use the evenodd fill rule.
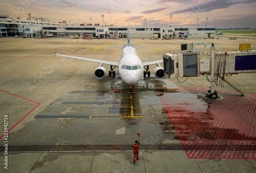
<path fill-rule="evenodd" d="M 0 37 L 85 37 L 90 35 L 98 38 L 120 38 L 127 36 L 127 27 L 100 26 L 98 23 L 74 26 L 62 22 L 51 22 L 48 19 L 31 17 L 26 19 L 0 16 Z M 215 33 L 212 27 L 130 27 L 131 38 L 204 38 Z"/>

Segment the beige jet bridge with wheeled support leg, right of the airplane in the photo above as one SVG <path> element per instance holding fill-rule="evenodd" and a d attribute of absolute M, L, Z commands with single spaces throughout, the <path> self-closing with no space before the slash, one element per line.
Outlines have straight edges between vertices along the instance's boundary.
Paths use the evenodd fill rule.
<path fill-rule="evenodd" d="M 197 52 L 193 45 L 205 45 L 205 55 L 199 57 L 201 52 Z M 165 76 L 170 79 L 203 75 L 211 83 L 207 93 L 210 98 L 217 98 L 214 85 L 224 86 L 224 82 L 244 95 L 245 89 L 227 76 L 256 72 L 256 51 L 215 53 L 213 43 L 211 44 L 211 53 L 208 55 L 206 55 L 206 44 L 204 43 L 181 43 L 181 50 L 180 54 L 167 53 L 163 56 Z"/>

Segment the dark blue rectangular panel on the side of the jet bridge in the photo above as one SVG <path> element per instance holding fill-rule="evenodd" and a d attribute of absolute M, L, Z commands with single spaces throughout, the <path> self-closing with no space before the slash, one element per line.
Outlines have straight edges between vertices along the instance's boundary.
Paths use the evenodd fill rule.
<path fill-rule="evenodd" d="M 234 70 L 256 70 L 256 55 L 236 56 Z"/>

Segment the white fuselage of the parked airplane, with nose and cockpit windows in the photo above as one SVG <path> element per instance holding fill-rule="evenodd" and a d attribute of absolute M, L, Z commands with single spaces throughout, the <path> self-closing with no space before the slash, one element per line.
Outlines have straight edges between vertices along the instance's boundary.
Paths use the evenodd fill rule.
<path fill-rule="evenodd" d="M 119 74 L 122 80 L 129 85 L 138 83 L 143 76 L 143 63 L 131 44 L 123 47 Z"/>

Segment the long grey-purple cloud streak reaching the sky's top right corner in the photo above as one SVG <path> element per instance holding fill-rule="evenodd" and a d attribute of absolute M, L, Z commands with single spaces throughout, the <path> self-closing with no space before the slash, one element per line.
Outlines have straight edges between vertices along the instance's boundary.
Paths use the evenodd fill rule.
<path fill-rule="evenodd" d="M 250 4 L 255 3 L 255 0 L 246 0 L 243 2 L 230 2 L 229 0 L 212 0 L 212 1 L 203 1 L 202 3 L 197 2 L 196 6 L 189 7 L 184 10 L 177 10 L 170 14 L 180 14 L 180 13 L 187 13 L 187 12 L 194 12 L 194 13 L 200 13 L 200 12 L 211 12 L 216 9 L 224 9 L 228 8 L 230 6 L 236 5 L 236 4 Z"/>

